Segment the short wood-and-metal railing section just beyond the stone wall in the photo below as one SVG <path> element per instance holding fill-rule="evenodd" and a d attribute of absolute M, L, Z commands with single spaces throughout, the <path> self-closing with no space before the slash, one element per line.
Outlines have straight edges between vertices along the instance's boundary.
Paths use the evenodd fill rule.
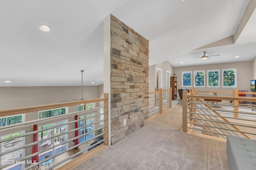
<path fill-rule="evenodd" d="M 149 92 L 149 117 L 157 113 L 164 113 L 172 107 L 172 88 L 156 89 L 155 92 Z"/>

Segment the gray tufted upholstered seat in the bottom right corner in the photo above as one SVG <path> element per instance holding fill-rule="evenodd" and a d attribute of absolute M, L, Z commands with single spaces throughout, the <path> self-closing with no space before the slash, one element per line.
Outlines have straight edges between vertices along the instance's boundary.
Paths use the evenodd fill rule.
<path fill-rule="evenodd" d="M 256 170 L 256 141 L 227 136 L 227 156 L 230 170 Z"/>

